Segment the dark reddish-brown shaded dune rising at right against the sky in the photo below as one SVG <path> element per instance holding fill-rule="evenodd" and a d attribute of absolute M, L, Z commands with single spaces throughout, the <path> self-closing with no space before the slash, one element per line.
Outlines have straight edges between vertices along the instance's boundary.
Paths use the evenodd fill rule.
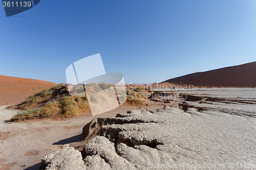
<path fill-rule="evenodd" d="M 159 85 L 194 85 L 198 87 L 256 87 L 256 62 L 224 67 L 169 79 Z M 159 87 L 160 87 L 159 86 Z"/>

